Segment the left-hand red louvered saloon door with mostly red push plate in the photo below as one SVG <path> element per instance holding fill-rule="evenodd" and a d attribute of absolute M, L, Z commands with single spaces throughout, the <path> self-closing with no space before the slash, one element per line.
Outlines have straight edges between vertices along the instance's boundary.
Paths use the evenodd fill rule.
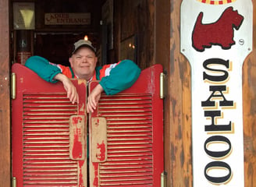
<path fill-rule="evenodd" d="M 87 186 L 86 83 L 73 80 L 80 104 L 62 83 L 47 83 L 15 64 L 12 99 L 12 177 L 16 186 Z"/>

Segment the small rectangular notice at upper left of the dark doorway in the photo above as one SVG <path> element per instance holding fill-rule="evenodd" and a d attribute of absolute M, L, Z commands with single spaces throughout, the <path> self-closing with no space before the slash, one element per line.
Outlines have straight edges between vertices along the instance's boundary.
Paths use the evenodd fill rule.
<path fill-rule="evenodd" d="M 13 29 L 34 30 L 34 2 L 13 2 Z"/>

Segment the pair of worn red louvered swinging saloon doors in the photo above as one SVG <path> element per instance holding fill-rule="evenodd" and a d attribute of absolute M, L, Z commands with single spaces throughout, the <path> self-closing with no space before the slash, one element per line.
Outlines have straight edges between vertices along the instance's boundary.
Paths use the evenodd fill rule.
<path fill-rule="evenodd" d="M 79 104 L 72 104 L 62 83 L 47 83 L 20 64 L 12 72 L 12 177 L 17 187 L 160 187 L 161 65 L 142 71 L 129 89 L 101 95 L 97 110 L 89 115 L 89 143 L 85 81 L 72 80 L 80 97 Z M 90 90 L 97 84 L 91 83 Z"/>

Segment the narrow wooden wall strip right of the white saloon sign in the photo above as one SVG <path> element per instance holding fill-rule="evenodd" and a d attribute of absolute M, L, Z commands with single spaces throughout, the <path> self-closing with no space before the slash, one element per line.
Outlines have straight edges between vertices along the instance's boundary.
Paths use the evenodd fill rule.
<path fill-rule="evenodd" d="M 253 51 L 244 61 L 243 110 L 244 110 L 244 173 L 245 185 L 256 184 L 256 1 L 253 18 Z"/>

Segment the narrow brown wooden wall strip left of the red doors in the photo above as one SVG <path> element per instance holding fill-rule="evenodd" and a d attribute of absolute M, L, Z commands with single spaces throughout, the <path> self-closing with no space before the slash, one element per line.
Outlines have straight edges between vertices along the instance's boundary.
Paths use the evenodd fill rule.
<path fill-rule="evenodd" d="M 0 1 L 0 185 L 10 186 L 9 1 Z"/>

